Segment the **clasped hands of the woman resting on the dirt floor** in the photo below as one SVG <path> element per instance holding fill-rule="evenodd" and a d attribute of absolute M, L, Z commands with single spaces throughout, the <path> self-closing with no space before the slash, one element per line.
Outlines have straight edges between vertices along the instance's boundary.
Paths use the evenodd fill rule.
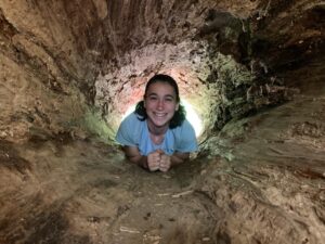
<path fill-rule="evenodd" d="M 147 155 L 147 167 L 151 171 L 167 172 L 171 166 L 170 159 L 170 155 L 165 154 L 162 150 L 156 150 Z"/>

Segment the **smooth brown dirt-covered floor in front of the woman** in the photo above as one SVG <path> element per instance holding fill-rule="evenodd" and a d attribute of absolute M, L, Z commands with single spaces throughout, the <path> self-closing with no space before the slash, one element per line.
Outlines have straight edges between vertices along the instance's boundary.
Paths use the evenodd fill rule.
<path fill-rule="evenodd" d="M 167 174 L 91 140 L 1 141 L 0 243 L 322 243 L 324 110 L 299 95 L 229 124 Z"/>

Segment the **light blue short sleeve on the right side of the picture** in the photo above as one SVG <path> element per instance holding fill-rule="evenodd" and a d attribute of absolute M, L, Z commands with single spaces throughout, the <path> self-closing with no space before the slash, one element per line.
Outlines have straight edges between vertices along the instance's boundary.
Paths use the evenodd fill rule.
<path fill-rule="evenodd" d="M 187 120 L 184 120 L 179 130 L 176 151 L 182 153 L 197 151 L 197 141 L 193 126 Z"/>

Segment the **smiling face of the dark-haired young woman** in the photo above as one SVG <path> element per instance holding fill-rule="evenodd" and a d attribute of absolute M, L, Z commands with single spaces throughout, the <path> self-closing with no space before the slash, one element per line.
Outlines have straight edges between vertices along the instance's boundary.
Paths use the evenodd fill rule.
<path fill-rule="evenodd" d="M 176 111 L 179 110 L 173 87 L 164 81 L 152 84 L 144 97 L 144 107 L 150 129 L 167 130 Z"/>

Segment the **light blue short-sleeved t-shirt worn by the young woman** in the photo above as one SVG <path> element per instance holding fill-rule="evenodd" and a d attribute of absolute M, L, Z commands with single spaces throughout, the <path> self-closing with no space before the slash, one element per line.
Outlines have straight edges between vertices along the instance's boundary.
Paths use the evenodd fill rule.
<path fill-rule="evenodd" d="M 168 129 L 161 144 L 155 144 L 148 132 L 146 119 L 141 121 L 135 113 L 131 113 L 120 124 L 116 141 L 122 145 L 136 146 L 141 155 L 148 155 L 157 149 L 171 155 L 174 152 L 190 153 L 197 150 L 195 131 L 185 119 L 181 126 Z"/>

